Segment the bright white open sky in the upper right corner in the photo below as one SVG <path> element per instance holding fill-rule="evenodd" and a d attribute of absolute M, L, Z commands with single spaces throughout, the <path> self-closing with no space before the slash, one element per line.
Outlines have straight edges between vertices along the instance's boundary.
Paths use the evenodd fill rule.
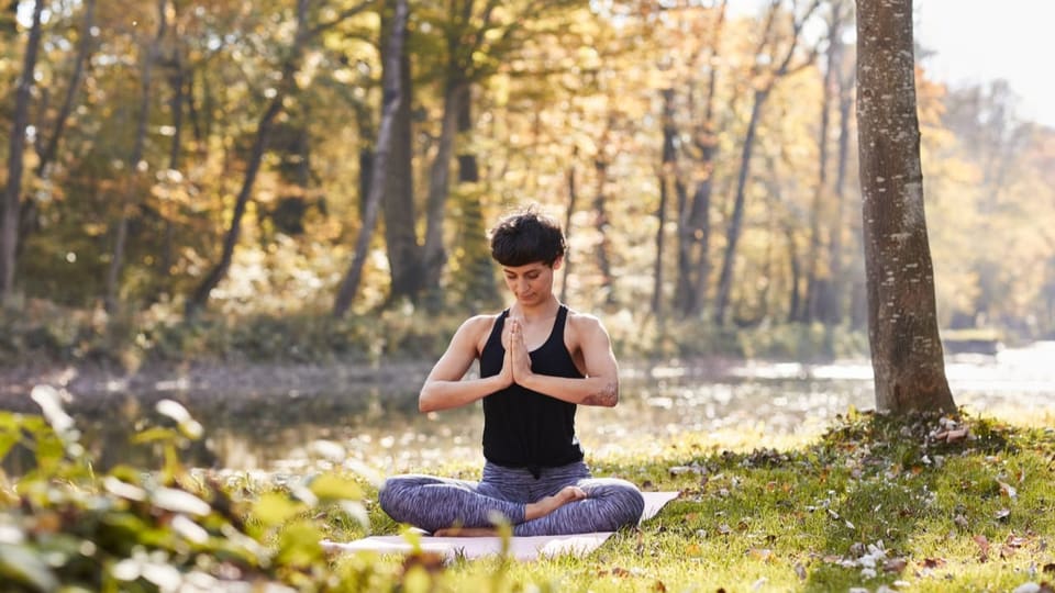
<path fill-rule="evenodd" d="M 1002 78 L 1017 113 L 1055 128 L 1055 0 L 915 0 L 918 56 L 928 77 L 953 87 Z"/>

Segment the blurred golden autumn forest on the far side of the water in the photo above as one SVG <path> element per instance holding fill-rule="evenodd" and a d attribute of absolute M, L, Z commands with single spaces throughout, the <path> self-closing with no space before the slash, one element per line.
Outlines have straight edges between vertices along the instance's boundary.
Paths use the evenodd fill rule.
<path fill-rule="evenodd" d="M 852 1 L 389 4 L 5 2 L 0 366 L 432 359 L 525 203 L 621 356 L 866 351 Z M 1055 131 L 917 85 L 943 336 L 1052 338 Z"/>

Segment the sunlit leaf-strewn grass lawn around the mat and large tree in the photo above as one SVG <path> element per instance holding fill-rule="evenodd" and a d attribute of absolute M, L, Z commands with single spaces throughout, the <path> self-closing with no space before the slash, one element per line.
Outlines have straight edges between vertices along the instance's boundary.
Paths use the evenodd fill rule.
<path fill-rule="evenodd" d="M 681 496 L 586 557 L 429 570 L 373 561 L 408 590 L 433 591 L 1012 591 L 1055 581 L 1051 428 L 851 413 L 798 445 L 740 445 L 687 435 L 593 460 L 596 474 Z M 370 517 L 376 533 L 398 532 L 376 506 Z"/>

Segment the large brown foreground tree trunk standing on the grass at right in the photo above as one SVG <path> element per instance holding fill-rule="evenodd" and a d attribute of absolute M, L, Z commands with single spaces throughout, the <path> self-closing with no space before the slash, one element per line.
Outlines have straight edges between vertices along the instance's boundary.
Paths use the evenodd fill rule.
<path fill-rule="evenodd" d="M 857 0 L 857 134 L 876 407 L 956 412 L 923 211 L 912 0 Z"/>

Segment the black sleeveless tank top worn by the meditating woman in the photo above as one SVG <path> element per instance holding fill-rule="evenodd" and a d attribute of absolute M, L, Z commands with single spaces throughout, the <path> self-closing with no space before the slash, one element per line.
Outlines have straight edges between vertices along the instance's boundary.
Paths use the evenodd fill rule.
<path fill-rule="evenodd" d="M 495 320 L 480 353 L 481 377 L 493 377 L 502 370 L 502 327 L 508 316 L 507 309 Z M 568 307 L 560 305 L 545 344 L 529 353 L 533 372 L 582 378 L 564 345 L 567 318 Z M 526 468 L 535 478 L 541 468 L 580 461 L 582 448 L 575 436 L 575 411 L 573 403 L 515 383 L 484 398 L 484 457 L 499 466 Z"/>

